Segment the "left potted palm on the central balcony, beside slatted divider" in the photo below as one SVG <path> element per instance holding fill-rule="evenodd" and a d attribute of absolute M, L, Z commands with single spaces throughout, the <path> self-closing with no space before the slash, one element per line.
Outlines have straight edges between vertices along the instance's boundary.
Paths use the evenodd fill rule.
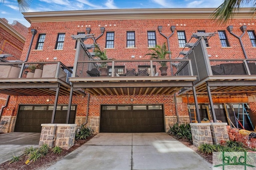
<path fill-rule="evenodd" d="M 108 60 L 108 57 L 106 55 L 106 50 L 101 51 L 100 47 L 98 44 L 94 44 L 94 53 L 95 57 L 98 57 L 99 60 Z M 100 68 L 100 76 L 108 76 L 108 63 L 107 62 L 102 62 L 101 63 L 101 68 Z"/>

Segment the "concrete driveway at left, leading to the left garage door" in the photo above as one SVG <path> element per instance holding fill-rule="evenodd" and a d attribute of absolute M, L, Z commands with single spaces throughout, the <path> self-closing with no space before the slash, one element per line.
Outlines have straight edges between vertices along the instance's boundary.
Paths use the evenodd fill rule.
<path fill-rule="evenodd" d="M 38 147 L 40 133 L 12 132 L 0 134 L 0 164 L 20 155 L 26 147 Z"/>

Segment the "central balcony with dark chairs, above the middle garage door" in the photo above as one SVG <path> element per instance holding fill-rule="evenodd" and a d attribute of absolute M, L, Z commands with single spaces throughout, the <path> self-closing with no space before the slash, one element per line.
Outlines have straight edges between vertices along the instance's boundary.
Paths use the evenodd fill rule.
<path fill-rule="evenodd" d="M 161 76 L 160 62 L 167 64 L 167 76 Z M 100 70 L 107 65 L 107 73 Z M 177 69 L 176 66 L 180 68 Z M 94 96 L 172 95 L 184 86 L 193 86 L 191 62 L 183 60 L 108 60 L 77 61 L 69 78 L 73 88 Z M 182 75 L 181 75 L 182 74 Z"/>

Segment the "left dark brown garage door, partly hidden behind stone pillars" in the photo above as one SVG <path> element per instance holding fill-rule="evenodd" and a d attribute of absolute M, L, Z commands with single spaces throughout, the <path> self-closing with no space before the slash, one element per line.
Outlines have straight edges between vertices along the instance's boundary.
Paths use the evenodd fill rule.
<path fill-rule="evenodd" d="M 66 123 L 67 105 L 57 106 L 54 123 Z M 51 123 L 53 105 L 20 105 L 15 132 L 41 132 L 42 123 Z M 69 123 L 75 122 L 76 106 L 72 106 Z"/>

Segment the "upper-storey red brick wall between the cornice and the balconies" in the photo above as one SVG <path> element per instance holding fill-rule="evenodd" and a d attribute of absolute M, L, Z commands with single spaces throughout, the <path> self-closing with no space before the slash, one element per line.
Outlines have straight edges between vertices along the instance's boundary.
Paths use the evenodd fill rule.
<path fill-rule="evenodd" d="M 232 20 L 228 23 L 228 25 L 234 25 L 233 32 L 240 36 L 242 31 L 240 31 L 239 27 L 240 23 L 246 23 L 247 30 L 254 30 L 255 26 L 252 23 L 256 23 L 255 19 L 245 20 Z M 250 23 L 250 25 L 249 25 Z M 114 26 L 116 24 L 116 26 Z M 97 40 L 97 43 L 100 44 L 101 47 L 105 47 L 106 40 L 106 32 L 114 31 L 114 49 L 107 49 L 107 55 L 109 58 L 114 59 L 131 59 L 131 55 L 135 55 L 135 59 L 149 59 L 150 56 L 144 55 L 148 52 L 148 40 L 147 40 L 147 31 L 156 31 L 156 41 L 157 44 L 162 45 L 166 42 L 166 39 L 160 35 L 157 31 L 158 25 L 163 26 L 162 33 L 165 35 L 170 35 L 170 25 L 176 25 L 176 30 L 174 35 L 170 37 L 170 49 L 172 51 L 172 59 L 176 59 L 178 57 L 179 52 L 182 51 L 183 48 L 179 48 L 178 46 L 178 36 L 177 31 L 185 31 L 187 41 L 190 40 L 192 33 L 197 32 L 198 30 L 205 30 L 206 32 L 217 32 L 218 30 L 225 30 L 228 41 L 231 47 L 222 48 L 220 44 L 220 39 L 218 37 L 218 33 L 216 36 L 211 37 L 209 42 L 208 53 L 212 56 L 211 59 L 244 59 L 244 55 L 242 53 L 242 49 L 240 47 L 240 43 L 236 37 L 228 33 L 226 27 L 228 25 L 218 25 L 214 23 L 212 20 L 208 19 L 182 19 L 182 20 L 104 20 L 104 21 L 65 21 L 65 22 L 40 22 L 40 23 L 32 23 L 31 28 L 36 29 L 38 33 L 35 36 L 34 42 L 32 44 L 32 49 L 35 49 L 36 41 L 38 39 L 38 34 L 46 33 L 46 40 L 44 43 L 44 48 L 42 51 L 31 51 L 30 53 L 30 61 L 45 61 L 46 58 L 49 58 L 49 61 L 52 61 L 53 57 L 57 57 L 57 61 L 62 61 L 64 64 L 68 66 L 72 66 L 74 63 L 74 55 L 75 55 L 75 40 L 73 40 L 70 36 L 76 35 L 77 32 L 84 32 L 85 25 L 90 25 L 91 33 L 95 34 L 97 37 L 100 35 L 100 27 L 105 27 L 105 33 Z M 78 27 L 79 25 L 79 27 Z M 83 25 L 83 27 L 82 27 Z M 100 25 L 100 26 L 98 26 Z M 107 26 L 105 26 L 107 25 Z M 110 26 L 111 25 L 111 26 Z M 185 25 L 185 26 L 184 26 Z M 126 31 L 135 31 L 135 46 L 136 48 L 127 49 L 126 48 Z M 66 33 L 64 48 L 63 50 L 54 50 L 56 39 L 58 33 Z M 30 39 L 32 34 L 28 34 L 28 41 L 24 46 L 24 52 L 22 54 L 22 59 L 26 57 L 26 51 L 28 49 Z M 196 39 L 192 39 L 190 42 L 195 42 Z M 255 48 L 252 47 L 248 34 L 246 33 L 242 37 L 242 41 L 246 48 L 246 53 L 248 58 L 255 58 Z M 86 43 L 92 43 L 91 40 L 86 41 Z M 186 51 L 188 48 L 185 49 Z M 215 57 L 218 55 L 218 57 Z M 142 56 L 142 58 L 139 58 Z"/>

